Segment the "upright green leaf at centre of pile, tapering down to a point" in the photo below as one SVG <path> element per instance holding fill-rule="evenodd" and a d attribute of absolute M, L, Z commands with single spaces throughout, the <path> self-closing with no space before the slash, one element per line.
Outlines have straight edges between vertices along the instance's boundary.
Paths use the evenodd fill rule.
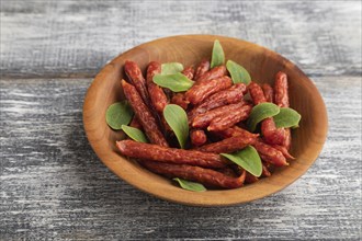
<path fill-rule="evenodd" d="M 163 117 L 178 138 L 180 147 L 184 149 L 189 138 L 189 123 L 186 113 L 179 105 L 169 104 L 163 108 Z"/>

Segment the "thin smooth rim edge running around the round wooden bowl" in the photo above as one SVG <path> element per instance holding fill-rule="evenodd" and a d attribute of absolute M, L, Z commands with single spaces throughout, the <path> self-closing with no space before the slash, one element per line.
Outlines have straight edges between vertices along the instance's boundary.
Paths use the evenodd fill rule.
<path fill-rule="evenodd" d="M 289 68 L 291 68 L 293 71 L 296 71 L 298 74 L 302 74 L 305 77 L 306 81 L 308 81 L 308 84 L 313 88 L 315 88 L 316 90 L 316 93 L 317 93 L 317 96 L 316 96 L 316 101 L 318 102 L 318 104 L 320 104 L 321 110 L 320 110 L 320 116 L 323 117 L 323 120 L 325 122 L 324 123 L 324 129 L 321 130 L 323 131 L 323 136 L 321 136 L 321 140 L 320 142 L 318 142 L 318 150 L 316 151 L 315 156 L 313 157 L 313 160 L 309 161 L 309 163 L 307 165 L 304 167 L 303 170 L 299 170 L 299 173 L 297 175 L 294 175 L 293 177 L 290 179 L 290 181 L 287 183 L 283 183 L 283 185 L 281 186 L 273 186 L 273 190 L 271 192 L 269 192 L 267 195 L 261 195 L 261 196 L 258 196 L 258 195 L 254 195 L 254 196 L 248 196 L 244 199 L 239 199 L 239 200 L 231 200 L 231 202 L 219 202 L 219 200 L 213 200 L 211 198 L 201 198 L 203 202 L 200 202 L 200 203 L 195 203 L 195 202 L 192 202 L 192 200 L 189 200 L 188 198 L 184 198 L 184 197 L 181 197 L 182 195 L 179 195 L 177 197 L 174 196 L 170 196 L 170 195 L 160 195 L 159 193 L 155 193 L 152 192 L 151 190 L 148 190 L 146 188 L 144 185 L 139 185 L 138 183 L 134 182 L 133 179 L 131 179 L 128 175 L 123 175 L 123 174 L 120 174 L 120 172 L 117 170 L 115 170 L 113 167 L 110 165 L 110 163 L 106 161 L 106 160 L 103 160 L 103 157 L 98 152 L 98 147 L 95 145 L 95 142 L 90 138 L 90 126 L 89 126 L 89 123 L 86 118 L 89 110 L 86 108 L 86 106 L 91 102 L 90 100 L 90 92 L 92 92 L 93 90 L 97 89 L 97 84 L 102 81 L 102 73 L 104 73 L 105 71 L 108 71 L 108 68 L 110 66 L 113 66 L 117 59 L 122 58 L 124 55 L 126 54 L 129 54 L 132 51 L 134 51 L 135 49 L 137 48 L 143 48 L 143 47 L 147 47 L 147 46 L 151 46 L 154 44 L 157 44 L 158 42 L 163 42 L 163 41 L 168 41 L 168 39 L 173 39 L 173 38 L 180 38 L 180 37 L 208 37 L 211 39 L 220 39 L 222 41 L 237 41 L 237 42 L 240 42 L 240 44 L 247 44 L 247 45 L 250 45 L 250 46 L 254 46 L 257 48 L 260 48 L 262 50 L 265 50 L 265 53 L 270 54 L 268 57 L 270 58 L 273 58 L 275 61 L 280 61 L 282 60 Z M 278 57 L 278 59 L 276 59 Z M 326 104 L 318 91 L 318 89 L 315 87 L 314 82 L 296 66 L 294 65 L 291 60 L 286 59 L 285 57 L 281 56 L 280 54 L 273 51 L 273 50 L 270 50 L 263 46 L 260 46 L 258 44 L 254 44 L 254 43 L 250 43 L 250 42 L 247 42 L 247 41 L 244 41 L 244 39 L 239 39 L 239 38 L 235 38 L 235 37 L 228 37 L 228 36 L 222 36 L 222 35 L 204 35 L 204 34 L 191 34 L 191 35 L 174 35 L 174 36 L 167 36 L 167 37 L 161 37 L 161 38 L 157 38 L 157 39 L 154 39 L 154 41 L 150 41 L 150 42 L 147 42 L 147 43 L 144 43 L 144 44 L 140 44 L 140 45 L 137 45 L 124 53 L 121 53 L 120 55 L 117 55 L 115 58 L 112 59 L 112 61 L 108 62 L 105 66 L 102 67 L 102 69 L 98 72 L 98 74 L 94 77 L 92 83 L 90 84 L 90 87 L 88 88 L 87 90 L 87 93 L 86 93 L 86 96 L 84 96 L 84 102 L 83 102 L 83 108 L 82 108 L 82 120 L 83 120 L 83 128 L 84 128 L 84 131 L 86 131 L 86 136 L 90 142 L 90 146 L 92 147 L 93 151 L 95 152 L 97 157 L 102 161 L 102 163 L 108 167 L 114 174 L 116 174 L 120 179 L 122 179 L 123 181 L 125 181 L 126 183 L 131 184 L 132 186 L 145 192 L 145 193 L 148 193 L 148 194 L 151 194 L 152 196 L 156 196 L 158 198 L 161 198 L 161 199 L 166 199 L 166 200 L 169 200 L 169 202 L 173 202 L 173 203 L 179 203 L 179 204 L 183 204 L 183 205 L 189 205 L 189 206 L 204 206 L 204 207 L 215 207 L 215 206 L 231 206 L 231 205 L 238 205 L 238 204 L 244 204 L 244 203 L 249 203 L 249 202 L 252 202 L 252 200 L 256 200 L 256 199 L 260 199 L 260 198 L 263 198 L 263 197 L 267 197 L 267 196 L 270 196 L 274 193 L 278 193 L 282 190 L 284 190 L 285 187 L 287 187 L 289 185 L 291 185 L 292 183 L 294 183 L 297 179 L 299 179 L 302 175 L 304 175 L 307 170 L 315 163 L 315 161 L 318 159 L 318 156 L 320 154 L 321 150 L 323 150 L 323 147 L 324 147 L 324 144 L 326 141 L 326 138 L 327 138 L 327 133 L 328 133 L 328 114 L 327 114 L 327 108 L 326 108 Z M 121 159 L 126 159 L 124 157 L 122 157 L 121 154 L 118 154 Z M 268 179 L 262 179 L 260 180 L 258 183 L 268 183 Z M 251 185 L 248 185 L 248 186 L 251 186 Z M 248 186 L 244 186 L 244 187 L 240 187 L 241 190 L 246 190 Z M 239 188 L 237 188 L 239 190 Z M 231 191 L 235 191 L 235 190 L 231 190 Z M 180 192 L 189 192 L 188 194 L 192 195 L 192 194 L 200 194 L 200 193 L 190 193 L 190 191 L 184 191 L 182 188 L 180 188 Z M 223 191 L 207 191 L 208 193 L 213 193 L 213 192 L 230 192 L 228 190 L 223 190 Z M 213 195 L 214 196 L 214 195 Z"/>

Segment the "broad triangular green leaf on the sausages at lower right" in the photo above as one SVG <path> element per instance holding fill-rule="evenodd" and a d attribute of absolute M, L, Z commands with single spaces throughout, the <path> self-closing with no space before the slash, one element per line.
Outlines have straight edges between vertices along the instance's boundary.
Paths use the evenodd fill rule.
<path fill-rule="evenodd" d="M 262 171 L 262 164 L 258 151 L 248 146 L 242 150 L 234 152 L 231 154 L 228 153 L 220 153 L 220 156 L 229 159 L 230 161 L 235 162 L 236 164 L 244 168 L 247 172 L 254 176 L 260 176 Z"/>

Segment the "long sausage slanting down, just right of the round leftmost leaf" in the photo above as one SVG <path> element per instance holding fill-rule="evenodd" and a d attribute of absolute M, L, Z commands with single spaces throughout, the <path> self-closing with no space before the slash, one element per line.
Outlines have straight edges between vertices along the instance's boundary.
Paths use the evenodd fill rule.
<path fill-rule="evenodd" d="M 128 100 L 131 106 L 133 107 L 139 123 L 144 127 L 148 139 L 152 144 L 168 147 L 169 145 L 167 144 L 161 130 L 159 129 L 156 118 L 154 117 L 147 105 L 143 102 L 135 87 L 127 83 L 125 80 L 122 80 L 122 87 L 123 92 Z"/>

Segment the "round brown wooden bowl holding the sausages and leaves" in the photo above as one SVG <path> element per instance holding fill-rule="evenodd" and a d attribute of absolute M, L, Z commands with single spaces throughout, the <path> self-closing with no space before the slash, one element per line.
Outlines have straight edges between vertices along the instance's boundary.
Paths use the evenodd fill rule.
<path fill-rule="evenodd" d="M 271 177 L 241 188 L 196 193 L 182 190 L 170 180 L 122 157 L 116 150 L 115 141 L 124 136 L 122 131 L 114 131 L 106 125 L 105 111 L 112 103 L 124 99 L 120 80 L 125 78 L 123 66 L 126 59 L 136 61 L 143 70 L 151 60 L 179 61 L 184 66 L 196 65 L 203 58 L 211 58 L 215 39 L 222 43 L 226 59 L 242 65 L 256 82 L 273 83 L 278 71 L 286 72 L 291 107 L 302 114 L 302 120 L 301 127 L 292 131 L 291 152 L 296 160 L 291 161 L 290 167 L 278 169 Z M 112 172 L 146 193 L 194 206 L 241 204 L 281 191 L 303 175 L 314 163 L 321 151 L 328 129 L 326 106 L 317 88 L 295 65 L 256 44 L 214 35 L 166 37 L 139 45 L 113 59 L 97 74 L 88 90 L 83 123 L 93 150 Z"/>

